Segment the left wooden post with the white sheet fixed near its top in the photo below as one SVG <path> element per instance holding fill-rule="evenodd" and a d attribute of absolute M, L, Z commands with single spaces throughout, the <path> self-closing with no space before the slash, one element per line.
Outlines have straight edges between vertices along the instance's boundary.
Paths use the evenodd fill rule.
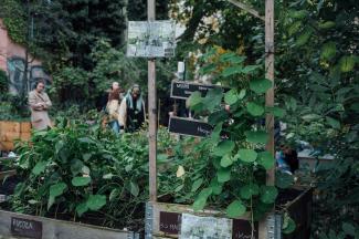
<path fill-rule="evenodd" d="M 156 0 L 147 0 L 148 21 L 156 19 Z M 157 201 L 157 94 L 156 94 L 156 61 L 148 61 L 148 141 L 149 141 L 149 199 Z"/>

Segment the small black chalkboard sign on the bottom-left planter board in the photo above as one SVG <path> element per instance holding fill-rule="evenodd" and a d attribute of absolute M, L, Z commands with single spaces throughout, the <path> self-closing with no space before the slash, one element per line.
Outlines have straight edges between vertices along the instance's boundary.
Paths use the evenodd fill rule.
<path fill-rule="evenodd" d="M 42 239 L 42 222 L 24 218 L 11 218 L 11 235 Z"/>

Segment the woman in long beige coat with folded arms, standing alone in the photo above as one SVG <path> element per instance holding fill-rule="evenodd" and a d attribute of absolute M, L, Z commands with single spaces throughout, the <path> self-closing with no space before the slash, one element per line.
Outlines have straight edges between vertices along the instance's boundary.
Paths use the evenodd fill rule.
<path fill-rule="evenodd" d="M 44 92 L 45 83 L 40 80 L 35 89 L 29 93 L 29 106 L 31 110 L 31 125 L 36 131 L 52 127 L 47 110 L 52 106 L 49 95 Z"/>

